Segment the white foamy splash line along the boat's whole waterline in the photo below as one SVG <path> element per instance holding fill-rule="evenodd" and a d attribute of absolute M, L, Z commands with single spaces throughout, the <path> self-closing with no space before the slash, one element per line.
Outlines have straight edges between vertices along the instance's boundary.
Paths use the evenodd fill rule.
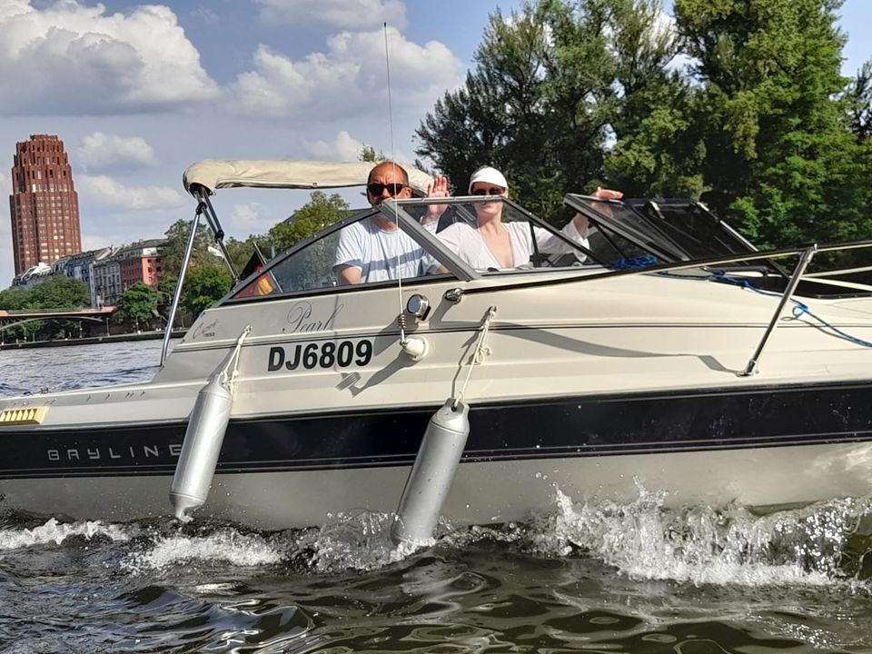
<path fill-rule="evenodd" d="M 391 541 L 394 515 L 372 511 L 330 516 L 320 528 L 256 532 L 226 524 L 180 530 L 160 525 L 63 523 L 0 530 L 0 551 L 64 540 L 135 540 L 123 566 L 134 573 L 180 564 L 237 568 L 291 565 L 315 573 L 379 570 L 423 547 L 462 550 L 476 541 L 501 542 L 548 558 L 589 557 L 630 578 L 702 584 L 827 586 L 872 577 L 872 499 L 829 500 L 757 515 L 739 506 L 666 508 L 667 494 L 640 484 L 630 502 L 574 503 L 559 489 L 551 510 L 502 526 L 441 523 L 428 543 Z M 31 522 L 31 524 L 34 524 Z"/>

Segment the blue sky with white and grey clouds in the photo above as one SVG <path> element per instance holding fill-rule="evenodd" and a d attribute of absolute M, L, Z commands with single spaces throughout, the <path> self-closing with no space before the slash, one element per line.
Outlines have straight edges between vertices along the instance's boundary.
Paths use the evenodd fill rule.
<path fill-rule="evenodd" d="M 182 173 L 203 159 L 353 161 L 368 144 L 411 162 L 415 128 L 462 83 L 488 16 L 518 5 L 0 0 L 0 194 L 12 191 L 15 143 L 57 134 L 90 250 L 190 219 Z M 843 73 L 853 75 L 872 57 L 872 2 L 847 0 L 841 15 Z M 264 193 L 283 192 L 219 191 L 229 236 L 265 233 L 309 198 Z M 0 206 L 2 289 L 15 271 Z"/>

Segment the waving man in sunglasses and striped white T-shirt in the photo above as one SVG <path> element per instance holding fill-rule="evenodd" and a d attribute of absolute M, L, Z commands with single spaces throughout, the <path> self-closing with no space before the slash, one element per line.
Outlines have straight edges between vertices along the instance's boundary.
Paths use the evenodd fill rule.
<path fill-rule="evenodd" d="M 448 195 L 446 179 L 437 177 L 427 194 L 429 197 Z M 367 180 L 366 198 L 372 206 L 388 198 L 411 198 L 409 173 L 398 163 L 377 164 Z M 425 226 L 435 228 L 435 223 L 425 220 Z M 421 245 L 397 227 L 397 223 L 374 215 L 342 229 L 333 270 L 340 284 L 356 284 L 421 277 L 442 269 Z"/>

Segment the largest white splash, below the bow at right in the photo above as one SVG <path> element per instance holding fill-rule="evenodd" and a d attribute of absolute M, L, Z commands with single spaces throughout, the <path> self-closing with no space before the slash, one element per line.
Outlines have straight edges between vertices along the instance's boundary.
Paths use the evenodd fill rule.
<path fill-rule="evenodd" d="M 642 579 L 827 585 L 857 572 L 843 555 L 872 516 L 869 498 L 759 516 L 734 505 L 668 510 L 666 495 L 639 485 L 639 497 L 629 504 L 577 505 L 557 490 L 555 509 L 524 527 L 525 540 L 535 552 L 585 552 Z"/>

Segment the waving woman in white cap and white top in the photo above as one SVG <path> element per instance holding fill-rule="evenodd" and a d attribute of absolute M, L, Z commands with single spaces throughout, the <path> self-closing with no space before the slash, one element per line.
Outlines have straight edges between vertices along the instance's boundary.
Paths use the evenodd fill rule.
<path fill-rule="evenodd" d="M 509 183 L 496 168 L 485 166 L 472 173 L 471 195 L 499 195 L 509 197 Z M 608 199 L 623 197 L 619 191 L 597 189 L 595 197 Z M 475 203 L 476 224 L 453 223 L 440 233 L 439 238 L 466 263 L 478 270 L 506 270 L 530 263 L 530 256 L 541 253 L 576 252 L 560 238 L 541 227 L 533 227 L 536 243 L 530 233 L 530 223 L 502 222 L 503 203 Z M 580 213 L 560 230 L 572 241 L 587 247 L 588 219 Z M 583 254 L 579 260 L 583 261 Z"/>

